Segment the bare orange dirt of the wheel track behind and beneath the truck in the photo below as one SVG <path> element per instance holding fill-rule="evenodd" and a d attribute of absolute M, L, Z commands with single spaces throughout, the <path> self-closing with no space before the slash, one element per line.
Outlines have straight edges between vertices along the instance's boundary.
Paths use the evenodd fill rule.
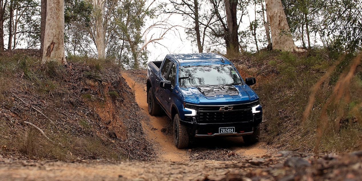
<path fill-rule="evenodd" d="M 193 159 L 194 155 L 200 155 L 199 150 L 207 152 L 210 148 L 214 150 L 221 148 L 221 151 L 227 150 L 239 156 L 239 158 L 249 158 L 254 156 L 261 156 L 267 153 L 275 153 L 275 150 L 267 150 L 266 145 L 263 142 L 259 142 L 252 146 L 245 146 L 243 138 L 231 137 L 231 138 L 220 138 L 220 139 L 198 139 L 191 149 L 177 149 L 174 146 L 172 132 L 171 134 L 165 134 L 161 132 L 161 129 L 170 130 L 167 126 L 171 125 L 171 120 L 167 116 L 151 116 L 148 114 L 148 105 L 146 100 L 146 85 L 137 81 L 135 75 L 123 73 L 122 76 L 126 79 L 129 87 L 135 92 L 135 99 L 137 104 L 140 106 L 144 114 L 150 117 L 150 120 L 144 120 L 142 126 L 149 139 L 154 140 L 156 147 L 160 150 L 159 157 L 162 161 L 188 161 Z M 133 79 L 131 78 L 133 77 Z M 135 80 L 134 80 L 135 79 Z M 213 157 L 202 159 L 214 159 Z M 223 160 L 223 159 L 222 159 Z"/>

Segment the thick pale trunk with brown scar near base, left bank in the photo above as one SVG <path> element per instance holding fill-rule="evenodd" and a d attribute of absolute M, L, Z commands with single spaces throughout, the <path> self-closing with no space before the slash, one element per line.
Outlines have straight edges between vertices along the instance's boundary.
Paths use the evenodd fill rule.
<path fill-rule="evenodd" d="M 45 32 L 42 63 L 54 60 L 67 64 L 64 57 L 64 0 L 47 0 Z"/>

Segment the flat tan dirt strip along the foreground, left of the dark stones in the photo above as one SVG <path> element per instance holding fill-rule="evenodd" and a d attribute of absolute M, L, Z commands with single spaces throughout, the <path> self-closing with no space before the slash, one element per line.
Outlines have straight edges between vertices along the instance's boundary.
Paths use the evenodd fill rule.
<path fill-rule="evenodd" d="M 7 162 L 9 160 L 5 160 Z M 240 163 L 193 161 L 184 163 L 144 161 L 32 162 L 0 161 L 0 180 L 203 180 L 240 167 Z"/>

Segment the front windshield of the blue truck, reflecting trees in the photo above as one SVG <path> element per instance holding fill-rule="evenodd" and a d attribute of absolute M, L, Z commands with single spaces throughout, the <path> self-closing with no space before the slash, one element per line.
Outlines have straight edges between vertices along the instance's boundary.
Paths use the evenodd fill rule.
<path fill-rule="evenodd" d="M 178 70 L 178 83 L 180 87 L 196 87 L 241 84 L 241 79 L 231 64 L 181 66 Z"/>

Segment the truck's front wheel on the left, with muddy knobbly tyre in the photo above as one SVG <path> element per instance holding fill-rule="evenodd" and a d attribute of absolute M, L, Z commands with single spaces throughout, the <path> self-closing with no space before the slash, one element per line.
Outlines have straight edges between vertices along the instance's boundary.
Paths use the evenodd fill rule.
<path fill-rule="evenodd" d="M 177 148 L 187 148 L 189 146 L 189 134 L 186 127 L 180 124 L 178 114 L 173 118 L 173 139 Z"/>

